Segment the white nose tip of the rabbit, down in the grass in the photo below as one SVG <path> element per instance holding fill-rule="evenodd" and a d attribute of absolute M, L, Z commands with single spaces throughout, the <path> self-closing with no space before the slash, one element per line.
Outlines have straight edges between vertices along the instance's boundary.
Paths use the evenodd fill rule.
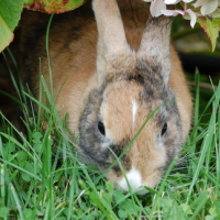
<path fill-rule="evenodd" d="M 125 175 L 132 190 L 140 187 L 140 189 L 135 194 L 144 195 L 147 193 L 147 190 L 142 186 L 141 173 L 138 169 L 135 169 L 135 167 L 132 167 Z M 123 191 L 129 191 L 127 179 L 123 176 L 123 178 L 118 182 L 119 188 Z"/>

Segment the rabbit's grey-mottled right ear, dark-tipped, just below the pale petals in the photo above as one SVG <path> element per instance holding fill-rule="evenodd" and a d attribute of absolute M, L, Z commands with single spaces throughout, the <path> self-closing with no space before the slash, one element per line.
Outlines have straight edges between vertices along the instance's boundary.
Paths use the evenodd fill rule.
<path fill-rule="evenodd" d="M 138 55 L 140 58 L 160 63 L 164 80 L 168 82 L 170 73 L 169 34 L 170 16 L 152 18 L 148 15 Z"/>

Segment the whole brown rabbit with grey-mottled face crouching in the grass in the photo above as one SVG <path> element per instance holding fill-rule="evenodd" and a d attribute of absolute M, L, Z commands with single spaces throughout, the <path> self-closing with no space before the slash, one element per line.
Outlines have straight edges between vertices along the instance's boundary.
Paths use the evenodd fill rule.
<path fill-rule="evenodd" d="M 36 96 L 38 57 L 50 85 L 44 16 L 28 12 L 21 26 L 21 72 Z M 88 1 L 52 21 L 56 109 L 61 117 L 68 113 L 79 152 L 100 172 L 124 153 L 124 173 L 117 163 L 106 174 L 123 191 L 144 195 L 143 186 L 155 187 L 190 130 L 193 101 L 170 26 L 172 18 L 153 18 L 141 0 Z"/>

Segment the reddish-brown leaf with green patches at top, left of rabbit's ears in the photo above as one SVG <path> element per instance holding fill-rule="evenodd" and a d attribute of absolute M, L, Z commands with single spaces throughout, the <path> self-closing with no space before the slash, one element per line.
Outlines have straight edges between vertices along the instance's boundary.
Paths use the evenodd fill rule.
<path fill-rule="evenodd" d="M 28 3 L 26 3 L 28 2 Z M 24 0 L 24 7 L 33 11 L 42 11 L 44 13 L 64 13 L 80 7 L 84 0 Z"/>

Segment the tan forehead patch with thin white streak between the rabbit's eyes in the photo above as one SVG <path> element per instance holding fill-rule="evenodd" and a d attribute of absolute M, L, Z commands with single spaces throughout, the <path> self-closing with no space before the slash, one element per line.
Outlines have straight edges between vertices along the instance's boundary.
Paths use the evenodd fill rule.
<path fill-rule="evenodd" d="M 125 86 L 120 84 L 117 88 L 114 86 L 107 91 L 100 113 L 107 136 L 114 143 L 135 135 L 150 113 L 162 103 L 160 99 L 143 99 L 143 92 L 144 89 L 138 84 L 127 84 Z M 155 120 L 151 120 L 146 127 L 154 130 L 153 128 L 156 128 L 157 124 Z"/>

